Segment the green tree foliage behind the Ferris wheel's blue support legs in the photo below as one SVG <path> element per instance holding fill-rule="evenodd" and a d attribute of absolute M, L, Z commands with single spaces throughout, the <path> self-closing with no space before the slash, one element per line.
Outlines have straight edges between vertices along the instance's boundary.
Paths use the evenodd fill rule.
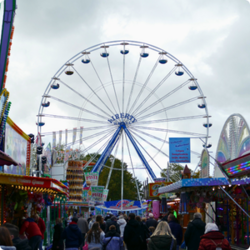
<path fill-rule="evenodd" d="M 86 155 L 84 157 L 84 160 L 88 161 L 91 159 L 92 155 Z M 98 157 L 95 158 L 93 162 L 96 162 L 98 160 Z M 113 156 L 111 155 L 107 162 L 105 163 L 106 166 L 111 167 L 113 161 Z M 114 163 L 114 169 L 112 171 L 110 181 L 109 181 L 109 194 L 108 194 L 108 199 L 107 200 L 120 200 L 121 199 L 121 172 L 120 170 L 116 169 L 121 169 L 122 168 L 122 161 L 119 159 L 115 159 Z M 134 178 L 132 173 L 127 171 L 127 164 L 124 163 L 123 165 L 124 168 L 124 185 L 123 185 L 123 199 L 130 199 L 130 200 L 138 200 L 138 195 L 137 195 L 137 188 L 136 188 L 136 182 L 138 183 L 138 187 L 140 190 L 140 193 L 142 195 L 142 183 L 137 179 Z M 85 172 L 91 171 L 92 166 L 88 167 L 85 169 Z M 106 183 L 108 180 L 108 175 L 109 175 L 110 168 L 104 167 L 102 169 L 102 172 L 99 176 L 99 186 L 104 186 L 106 187 Z"/>

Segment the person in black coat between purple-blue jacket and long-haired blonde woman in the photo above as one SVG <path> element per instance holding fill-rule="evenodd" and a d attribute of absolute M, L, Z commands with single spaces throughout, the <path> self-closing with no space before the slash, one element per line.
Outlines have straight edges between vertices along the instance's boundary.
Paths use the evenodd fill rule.
<path fill-rule="evenodd" d="M 124 242 L 128 250 L 144 250 L 147 248 L 145 231 L 140 222 L 135 220 L 135 214 L 130 213 L 129 221 L 124 230 Z"/>

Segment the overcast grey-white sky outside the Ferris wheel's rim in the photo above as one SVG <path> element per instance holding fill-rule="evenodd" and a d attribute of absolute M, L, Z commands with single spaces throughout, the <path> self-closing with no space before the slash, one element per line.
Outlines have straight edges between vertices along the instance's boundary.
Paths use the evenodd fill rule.
<path fill-rule="evenodd" d="M 36 134 L 44 90 L 69 58 L 95 44 L 123 39 L 168 51 L 198 79 L 212 116 L 213 154 L 228 116 L 240 113 L 250 122 L 248 1 L 17 0 L 17 5 L 6 87 L 10 117 L 27 134 Z M 73 102 L 70 97 L 66 101 Z M 62 121 L 44 130 L 55 130 L 56 122 Z"/>

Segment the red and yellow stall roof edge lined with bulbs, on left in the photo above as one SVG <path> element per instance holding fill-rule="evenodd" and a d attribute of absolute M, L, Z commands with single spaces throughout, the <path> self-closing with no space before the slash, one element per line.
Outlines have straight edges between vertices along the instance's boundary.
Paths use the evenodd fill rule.
<path fill-rule="evenodd" d="M 68 196 L 68 187 L 51 178 L 0 173 L 0 184 L 12 185 L 20 190 Z"/>

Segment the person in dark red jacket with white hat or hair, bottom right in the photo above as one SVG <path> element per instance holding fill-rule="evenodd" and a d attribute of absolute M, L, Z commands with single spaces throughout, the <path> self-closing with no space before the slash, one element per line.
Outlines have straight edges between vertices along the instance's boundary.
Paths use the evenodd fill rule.
<path fill-rule="evenodd" d="M 232 250 L 230 244 L 224 235 L 219 231 L 215 223 L 207 223 L 205 234 L 201 236 L 201 241 L 198 250 Z"/>

